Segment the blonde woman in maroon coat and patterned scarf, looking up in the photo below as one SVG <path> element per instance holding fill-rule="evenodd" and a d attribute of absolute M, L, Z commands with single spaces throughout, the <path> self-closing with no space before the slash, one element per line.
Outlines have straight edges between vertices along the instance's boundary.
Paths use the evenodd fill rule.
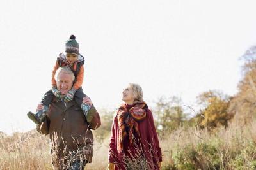
<path fill-rule="evenodd" d="M 129 83 L 113 118 L 108 169 L 160 169 L 162 153 L 152 112 L 138 84 Z"/>

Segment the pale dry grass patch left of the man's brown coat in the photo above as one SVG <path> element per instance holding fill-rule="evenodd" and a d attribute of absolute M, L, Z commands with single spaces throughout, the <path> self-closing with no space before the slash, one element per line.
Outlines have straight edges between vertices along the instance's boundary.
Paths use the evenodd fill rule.
<path fill-rule="evenodd" d="M 49 139 L 36 131 L 0 137 L 0 169 L 51 169 Z"/>

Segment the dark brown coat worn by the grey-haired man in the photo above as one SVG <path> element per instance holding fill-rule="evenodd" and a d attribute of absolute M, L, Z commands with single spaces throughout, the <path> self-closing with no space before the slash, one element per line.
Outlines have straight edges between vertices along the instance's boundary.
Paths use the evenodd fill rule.
<path fill-rule="evenodd" d="M 45 121 L 38 128 L 42 134 L 49 134 L 54 167 L 65 169 L 75 160 L 92 162 L 93 134 L 90 129 L 97 129 L 100 124 L 98 113 L 92 122 L 87 122 L 75 101 L 65 106 L 54 97 Z"/>

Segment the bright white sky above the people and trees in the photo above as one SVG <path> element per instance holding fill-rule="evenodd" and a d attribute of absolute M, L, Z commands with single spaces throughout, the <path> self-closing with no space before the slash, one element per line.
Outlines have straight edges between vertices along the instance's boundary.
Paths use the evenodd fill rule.
<path fill-rule="evenodd" d="M 76 36 L 83 89 L 115 108 L 128 82 L 148 103 L 218 89 L 235 94 L 239 57 L 256 44 L 256 1 L 1 1 L 0 131 L 35 128 L 27 117 L 51 88 L 51 71 Z"/>

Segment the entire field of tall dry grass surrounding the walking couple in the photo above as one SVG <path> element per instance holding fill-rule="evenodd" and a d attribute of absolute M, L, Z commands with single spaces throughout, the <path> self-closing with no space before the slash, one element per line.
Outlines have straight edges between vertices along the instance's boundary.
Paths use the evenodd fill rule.
<path fill-rule="evenodd" d="M 256 122 L 232 123 L 214 132 L 180 128 L 161 140 L 162 169 L 255 169 Z M 86 169 L 106 169 L 108 138 L 95 141 L 93 163 Z M 36 131 L 0 136 L 0 169 L 52 169 L 49 137 Z"/>

